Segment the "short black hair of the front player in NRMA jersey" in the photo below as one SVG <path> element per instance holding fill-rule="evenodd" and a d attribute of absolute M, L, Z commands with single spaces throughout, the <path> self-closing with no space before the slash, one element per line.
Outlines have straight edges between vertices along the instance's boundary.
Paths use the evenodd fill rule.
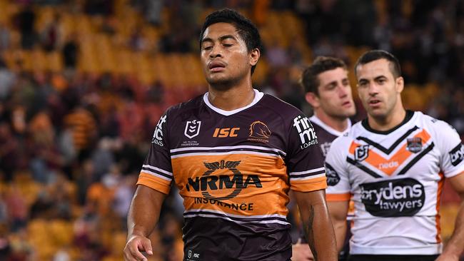
<path fill-rule="evenodd" d="M 250 19 L 247 19 L 245 16 L 233 9 L 221 9 L 206 16 L 205 22 L 201 27 L 200 46 L 208 26 L 217 23 L 233 24 L 238 35 L 245 42 L 248 52 L 255 48 L 258 48 L 261 51 L 261 36 L 259 35 L 258 28 L 252 21 L 250 21 Z M 251 74 L 255 71 L 255 67 L 256 65 L 251 67 Z"/>

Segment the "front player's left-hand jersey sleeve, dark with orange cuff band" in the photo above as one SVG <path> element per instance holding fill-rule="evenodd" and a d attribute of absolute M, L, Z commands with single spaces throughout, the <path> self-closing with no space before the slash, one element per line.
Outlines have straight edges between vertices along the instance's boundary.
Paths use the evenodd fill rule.
<path fill-rule="evenodd" d="M 137 185 L 168 194 L 173 180 L 171 155 L 169 154 L 167 128 L 168 114 L 164 113 L 156 125 L 151 147 L 143 162 Z"/>

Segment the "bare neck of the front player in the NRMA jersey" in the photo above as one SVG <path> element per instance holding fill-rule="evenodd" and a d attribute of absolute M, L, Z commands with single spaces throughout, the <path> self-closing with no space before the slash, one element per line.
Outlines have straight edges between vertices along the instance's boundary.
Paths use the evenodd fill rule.
<path fill-rule="evenodd" d="M 238 108 L 243 108 L 253 102 L 255 91 L 249 84 L 241 84 L 228 88 L 226 90 L 218 90 L 217 88 L 208 88 L 208 100 L 216 108 L 224 111 L 233 111 Z"/>

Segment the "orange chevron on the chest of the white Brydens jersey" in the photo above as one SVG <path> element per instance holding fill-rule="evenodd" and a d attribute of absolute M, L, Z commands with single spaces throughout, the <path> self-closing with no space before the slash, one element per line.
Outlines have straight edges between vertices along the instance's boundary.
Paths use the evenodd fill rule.
<path fill-rule="evenodd" d="M 417 133 L 414 135 L 414 137 L 421 138 L 423 143 L 427 143 L 428 140 L 430 140 L 430 135 L 425 130 Z M 351 143 L 349 150 L 351 155 L 354 155 L 355 148 L 358 146 L 360 146 L 360 144 L 355 143 L 354 141 Z M 404 144 L 390 159 L 383 158 L 383 156 L 379 155 L 371 149 L 369 150 L 368 158 L 366 158 L 364 161 L 372 165 L 373 168 L 382 171 L 386 175 L 392 175 L 395 170 L 397 170 L 405 162 L 405 160 L 410 158 L 410 155 L 414 154 L 407 150 L 407 147 L 408 145 Z"/>

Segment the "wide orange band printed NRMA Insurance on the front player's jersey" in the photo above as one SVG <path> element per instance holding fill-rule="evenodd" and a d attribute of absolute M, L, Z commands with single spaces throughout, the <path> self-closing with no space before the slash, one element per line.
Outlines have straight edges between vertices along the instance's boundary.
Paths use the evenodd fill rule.
<path fill-rule="evenodd" d="M 214 210 L 228 215 L 287 215 L 287 168 L 282 158 L 236 153 L 171 158 L 173 176 L 186 210 Z M 325 178 L 325 177 L 323 177 Z M 301 185 L 321 187 L 310 179 Z"/>

